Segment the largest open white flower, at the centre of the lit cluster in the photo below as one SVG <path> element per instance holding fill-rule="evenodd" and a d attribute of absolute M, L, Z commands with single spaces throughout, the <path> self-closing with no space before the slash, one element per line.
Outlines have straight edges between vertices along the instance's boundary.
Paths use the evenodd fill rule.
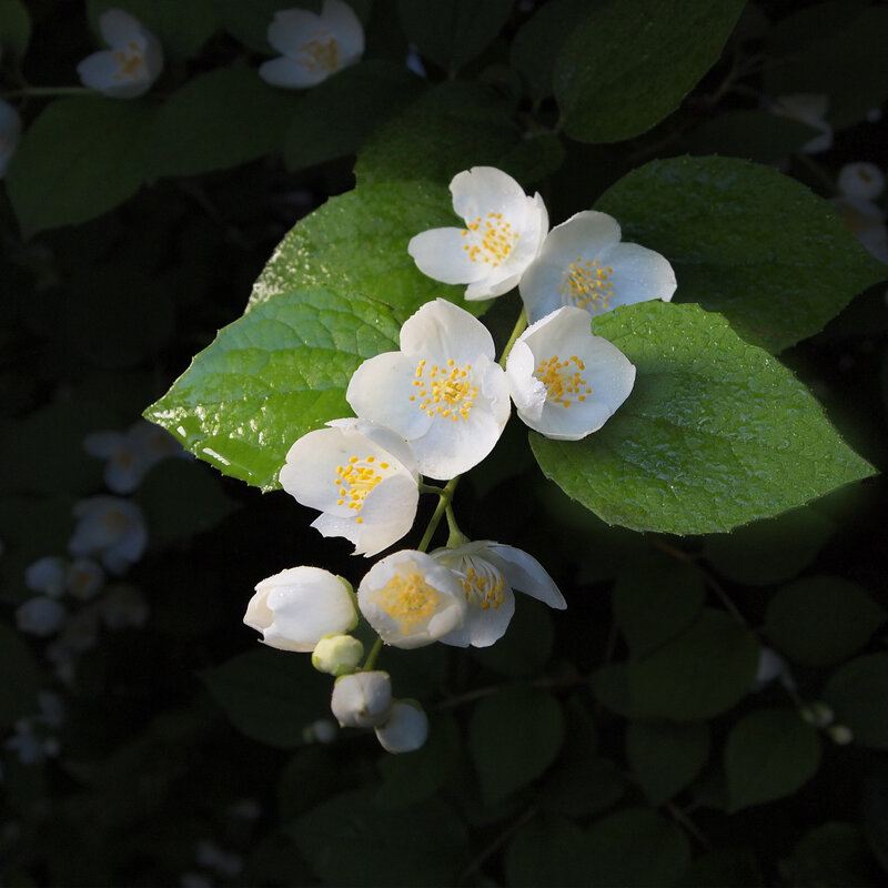
<path fill-rule="evenodd" d="M 418 470 L 451 478 L 480 463 L 508 420 L 508 383 L 487 327 L 446 300 L 401 327 L 401 351 L 364 361 L 345 397 L 364 420 L 394 430 Z"/>

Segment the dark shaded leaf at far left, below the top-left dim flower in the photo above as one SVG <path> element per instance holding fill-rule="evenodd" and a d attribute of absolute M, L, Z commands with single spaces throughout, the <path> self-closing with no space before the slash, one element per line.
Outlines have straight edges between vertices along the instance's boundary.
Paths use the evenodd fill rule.
<path fill-rule="evenodd" d="M 7 189 L 26 238 L 93 219 L 142 184 L 148 104 L 95 95 L 59 99 L 28 128 Z"/>

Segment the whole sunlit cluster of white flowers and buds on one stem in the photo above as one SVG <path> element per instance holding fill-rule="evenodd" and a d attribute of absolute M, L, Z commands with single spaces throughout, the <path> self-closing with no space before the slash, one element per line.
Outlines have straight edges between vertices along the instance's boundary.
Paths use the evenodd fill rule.
<path fill-rule="evenodd" d="M 491 333 L 458 305 L 424 304 L 401 327 L 398 351 L 354 371 L 345 400 L 355 416 L 300 437 L 280 472 L 283 488 L 321 513 L 313 526 L 351 541 L 355 554 L 377 555 L 407 534 L 421 493 L 440 497 L 435 517 L 416 548 L 376 562 L 356 594 L 324 569 L 292 567 L 255 587 L 244 616 L 265 644 L 311 653 L 316 669 L 336 677 L 331 708 L 340 725 L 374 728 L 392 753 L 418 748 L 428 725 L 375 668 L 384 645 L 490 646 L 508 627 L 515 591 L 566 606 L 532 555 L 463 536 L 452 504 L 458 476 L 493 451 L 513 403 L 547 437 L 577 441 L 601 428 L 629 396 L 635 367 L 592 333 L 592 317 L 668 301 L 676 289 L 669 263 L 620 243 L 605 213 L 578 213 L 549 232 L 541 196 L 488 167 L 458 173 L 451 192 L 464 228 L 418 233 L 407 251 L 425 274 L 467 284 L 466 300 L 519 289 L 524 311 L 506 352 L 497 361 Z M 450 539 L 428 552 L 443 514 Z M 351 635 L 359 616 L 377 636 L 363 665 L 363 644 Z"/>

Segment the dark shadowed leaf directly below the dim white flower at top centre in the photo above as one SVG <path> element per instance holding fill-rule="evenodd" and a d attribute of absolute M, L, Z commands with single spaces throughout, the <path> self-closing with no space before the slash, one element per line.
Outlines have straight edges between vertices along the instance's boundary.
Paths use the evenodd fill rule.
<path fill-rule="evenodd" d="M 364 140 L 422 90 L 403 64 L 366 61 L 327 78 L 291 113 L 284 139 L 287 169 L 353 154 Z"/>

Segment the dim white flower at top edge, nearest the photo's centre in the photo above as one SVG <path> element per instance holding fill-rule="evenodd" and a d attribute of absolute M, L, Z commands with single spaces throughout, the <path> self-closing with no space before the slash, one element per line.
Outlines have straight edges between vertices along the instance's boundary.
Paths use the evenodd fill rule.
<path fill-rule="evenodd" d="M 268 36 L 281 58 L 262 64 L 259 74 L 273 87 L 315 87 L 364 52 L 361 21 L 341 0 L 324 0 L 320 16 L 306 9 L 275 12 Z"/>

